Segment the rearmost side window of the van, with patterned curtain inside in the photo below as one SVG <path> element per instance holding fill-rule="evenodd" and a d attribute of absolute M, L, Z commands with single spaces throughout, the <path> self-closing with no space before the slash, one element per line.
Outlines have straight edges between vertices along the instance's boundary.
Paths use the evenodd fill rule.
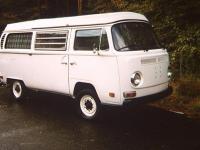
<path fill-rule="evenodd" d="M 6 49 L 30 49 L 32 33 L 11 33 L 6 39 Z"/>

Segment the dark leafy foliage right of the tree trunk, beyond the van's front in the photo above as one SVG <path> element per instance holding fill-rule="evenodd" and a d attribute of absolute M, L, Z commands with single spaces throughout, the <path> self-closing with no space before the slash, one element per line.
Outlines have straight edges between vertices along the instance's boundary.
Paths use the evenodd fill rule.
<path fill-rule="evenodd" d="M 86 13 L 133 11 L 142 13 L 170 51 L 175 77 L 200 78 L 199 0 L 92 0 Z"/>

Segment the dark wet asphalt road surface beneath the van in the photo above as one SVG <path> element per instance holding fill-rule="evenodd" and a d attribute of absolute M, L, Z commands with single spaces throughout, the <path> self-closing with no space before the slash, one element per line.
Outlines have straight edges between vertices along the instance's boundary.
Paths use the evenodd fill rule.
<path fill-rule="evenodd" d="M 200 150 L 200 121 L 150 105 L 106 107 L 81 119 L 69 98 L 0 88 L 0 150 Z"/>

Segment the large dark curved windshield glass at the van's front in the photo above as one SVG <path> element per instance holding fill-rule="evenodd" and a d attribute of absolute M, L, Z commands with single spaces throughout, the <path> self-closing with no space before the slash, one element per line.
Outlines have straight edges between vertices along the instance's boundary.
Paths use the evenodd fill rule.
<path fill-rule="evenodd" d="M 152 27 L 144 22 L 123 22 L 112 27 L 114 47 L 117 51 L 159 49 Z"/>

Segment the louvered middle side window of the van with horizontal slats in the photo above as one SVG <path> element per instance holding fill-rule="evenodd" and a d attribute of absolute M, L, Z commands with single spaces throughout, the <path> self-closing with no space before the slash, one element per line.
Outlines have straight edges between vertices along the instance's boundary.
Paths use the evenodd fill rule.
<path fill-rule="evenodd" d="M 38 32 L 36 34 L 35 49 L 50 51 L 65 51 L 68 31 L 66 32 Z"/>

